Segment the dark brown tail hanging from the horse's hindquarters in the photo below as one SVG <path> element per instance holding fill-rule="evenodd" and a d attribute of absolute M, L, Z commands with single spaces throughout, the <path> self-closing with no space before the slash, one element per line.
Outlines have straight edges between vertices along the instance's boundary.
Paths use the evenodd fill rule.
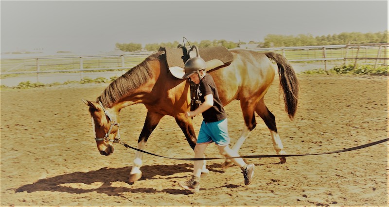
<path fill-rule="evenodd" d="M 280 75 L 280 86 L 283 89 L 285 111 L 288 112 L 289 118 L 293 119 L 297 111 L 300 89 L 296 73 L 293 70 L 292 65 L 289 64 L 283 55 L 274 52 L 267 52 L 265 55 L 277 63 L 278 74 Z"/>

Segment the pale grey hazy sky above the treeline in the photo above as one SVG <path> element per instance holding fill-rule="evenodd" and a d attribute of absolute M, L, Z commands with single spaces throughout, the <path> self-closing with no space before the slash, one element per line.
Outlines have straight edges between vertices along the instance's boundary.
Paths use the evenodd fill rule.
<path fill-rule="evenodd" d="M 1 52 L 111 51 L 116 43 L 264 41 L 267 34 L 383 32 L 387 0 L 0 1 Z"/>

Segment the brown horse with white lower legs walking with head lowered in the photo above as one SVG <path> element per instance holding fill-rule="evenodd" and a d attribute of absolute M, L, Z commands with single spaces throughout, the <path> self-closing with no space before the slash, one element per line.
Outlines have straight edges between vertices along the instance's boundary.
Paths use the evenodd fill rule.
<path fill-rule="evenodd" d="M 264 96 L 274 80 L 273 60 L 278 65 L 280 87 L 283 89 L 285 111 L 293 119 L 298 103 L 299 83 L 292 66 L 280 54 L 258 53 L 244 49 L 232 49 L 230 65 L 210 71 L 223 105 L 240 100 L 245 127 L 232 147 L 238 151 L 256 126 L 254 111 L 264 120 L 270 130 L 273 146 L 278 155 L 286 154 L 277 133 L 274 115 L 267 109 Z M 147 57 L 123 76 L 114 80 L 96 102 L 84 101 L 89 106 L 92 125 L 96 134 L 97 148 L 102 155 L 113 153 L 114 142 L 119 134 L 119 112 L 132 104 L 142 103 L 147 108 L 146 120 L 138 140 L 138 148 L 144 146 L 150 134 L 165 115 L 173 116 L 182 129 L 189 145 L 194 149 L 196 135 L 192 119 L 185 118 L 190 108 L 189 82 L 175 78 L 168 70 L 165 54 L 159 51 Z M 286 161 L 285 157 L 280 158 Z M 136 152 L 129 182 L 141 178 L 142 153 Z M 205 166 L 205 165 L 204 165 Z M 204 167 L 204 172 L 207 169 Z"/>

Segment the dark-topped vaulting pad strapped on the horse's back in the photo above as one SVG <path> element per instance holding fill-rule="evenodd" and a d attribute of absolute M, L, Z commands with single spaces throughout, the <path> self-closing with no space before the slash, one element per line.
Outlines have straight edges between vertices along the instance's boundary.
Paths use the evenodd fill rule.
<path fill-rule="evenodd" d="M 233 56 L 227 48 L 199 48 L 199 54 L 207 64 L 206 71 L 218 69 L 231 64 Z M 164 51 L 166 55 L 166 63 L 170 73 L 177 79 L 183 79 L 184 65 L 187 60 L 196 56 L 196 52 L 192 50 L 188 54 L 188 49 L 178 45 L 177 48 L 159 48 L 159 51 Z"/>

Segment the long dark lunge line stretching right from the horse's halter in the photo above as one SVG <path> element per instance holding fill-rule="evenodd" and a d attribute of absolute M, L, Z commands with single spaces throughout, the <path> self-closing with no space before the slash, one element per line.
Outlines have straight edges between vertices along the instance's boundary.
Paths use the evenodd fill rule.
<path fill-rule="evenodd" d="M 298 154 L 298 155 L 248 155 L 248 156 L 240 156 L 240 157 L 223 157 L 223 158 L 169 158 L 169 157 L 165 157 L 165 156 L 161 156 L 161 155 L 156 155 L 156 154 L 153 154 L 153 153 L 150 153 L 150 152 L 146 152 L 146 151 L 143 151 L 141 149 L 137 149 L 137 148 L 132 147 L 132 146 L 130 146 L 130 145 L 124 143 L 124 142 L 119 142 L 119 143 L 124 145 L 126 148 L 131 148 L 131 149 L 134 149 L 134 150 L 142 152 L 142 153 L 146 153 L 146 154 L 149 154 L 149 155 L 153 155 L 153 156 L 157 156 L 157 157 L 161 157 L 161 158 L 166 158 L 166 159 L 210 160 L 210 159 L 226 159 L 226 158 L 277 158 L 277 157 L 300 157 L 300 156 L 311 156 L 311 155 L 328 155 L 328 154 L 349 152 L 349 151 L 353 151 L 353 150 L 357 150 L 357 149 L 362 149 L 362 148 L 370 147 L 370 146 L 373 146 L 373 145 L 376 145 L 376 144 L 379 144 L 379 143 L 384 143 L 384 142 L 387 142 L 387 141 L 389 141 L 389 138 L 383 139 L 383 140 L 380 140 L 380 141 L 376 141 L 376 142 L 372 142 L 372 143 L 363 144 L 363 145 L 356 146 L 356 147 L 336 150 L 336 151 L 332 151 L 332 152 L 324 152 L 324 153 Z"/>

